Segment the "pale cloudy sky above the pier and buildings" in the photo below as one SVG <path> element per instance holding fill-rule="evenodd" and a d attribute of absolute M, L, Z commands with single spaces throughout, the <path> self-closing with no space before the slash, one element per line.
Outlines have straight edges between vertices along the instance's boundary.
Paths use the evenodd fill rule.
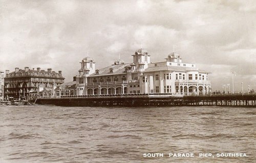
<path fill-rule="evenodd" d="M 256 89 L 256 1 L 0 1 L 0 69 L 62 70 L 89 56 L 96 69 L 147 49 L 152 62 L 179 53 L 210 71 L 212 90 Z M 229 90 L 229 88 L 227 88 Z"/>

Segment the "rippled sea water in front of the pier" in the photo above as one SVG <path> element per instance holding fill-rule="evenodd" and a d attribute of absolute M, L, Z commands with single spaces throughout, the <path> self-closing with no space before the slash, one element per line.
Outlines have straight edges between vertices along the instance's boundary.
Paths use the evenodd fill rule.
<path fill-rule="evenodd" d="M 255 107 L 2 106 L 0 162 L 253 162 L 255 126 Z"/>

